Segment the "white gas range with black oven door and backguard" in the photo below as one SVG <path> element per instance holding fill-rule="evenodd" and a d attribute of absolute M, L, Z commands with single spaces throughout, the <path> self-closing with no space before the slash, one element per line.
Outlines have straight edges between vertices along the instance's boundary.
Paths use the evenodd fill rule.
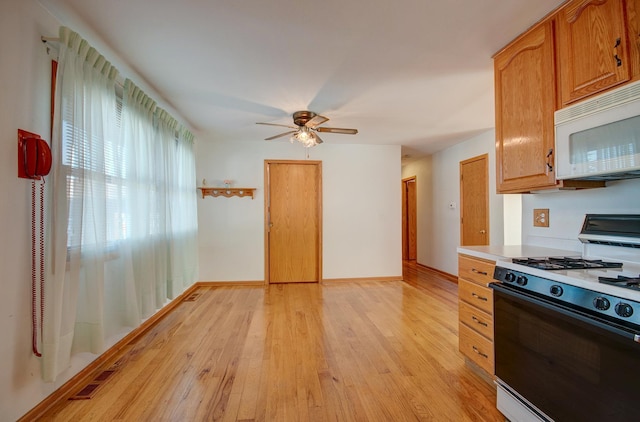
<path fill-rule="evenodd" d="M 496 263 L 497 405 L 513 422 L 637 420 L 640 215 L 586 215 L 578 237 L 583 254 Z"/>

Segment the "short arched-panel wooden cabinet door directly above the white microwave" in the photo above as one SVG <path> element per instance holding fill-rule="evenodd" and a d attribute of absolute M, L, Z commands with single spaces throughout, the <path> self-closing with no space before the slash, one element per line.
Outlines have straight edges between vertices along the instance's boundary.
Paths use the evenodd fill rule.
<path fill-rule="evenodd" d="M 558 13 L 562 104 L 630 79 L 624 0 L 579 0 Z"/>

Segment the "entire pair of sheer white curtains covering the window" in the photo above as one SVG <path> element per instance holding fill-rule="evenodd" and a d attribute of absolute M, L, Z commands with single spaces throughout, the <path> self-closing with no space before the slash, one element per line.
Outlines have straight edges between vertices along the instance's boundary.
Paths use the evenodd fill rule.
<path fill-rule="evenodd" d="M 192 135 L 60 30 L 43 378 L 101 353 L 196 280 Z"/>

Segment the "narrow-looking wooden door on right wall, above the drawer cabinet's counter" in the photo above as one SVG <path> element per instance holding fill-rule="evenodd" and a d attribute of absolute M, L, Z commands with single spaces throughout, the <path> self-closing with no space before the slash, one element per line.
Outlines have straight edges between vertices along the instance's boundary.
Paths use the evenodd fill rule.
<path fill-rule="evenodd" d="M 488 155 L 460 162 L 460 245 L 489 244 Z"/>

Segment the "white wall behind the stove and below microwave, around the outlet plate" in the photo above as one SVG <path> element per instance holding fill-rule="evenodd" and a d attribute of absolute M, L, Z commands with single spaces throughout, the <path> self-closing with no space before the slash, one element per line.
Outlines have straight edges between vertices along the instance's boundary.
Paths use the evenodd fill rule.
<path fill-rule="evenodd" d="M 599 189 L 523 195 L 523 241 L 580 250 L 577 236 L 585 214 L 640 214 L 640 179 L 607 184 L 606 188 Z M 533 227 L 534 208 L 549 209 L 548 228 Z"/>

